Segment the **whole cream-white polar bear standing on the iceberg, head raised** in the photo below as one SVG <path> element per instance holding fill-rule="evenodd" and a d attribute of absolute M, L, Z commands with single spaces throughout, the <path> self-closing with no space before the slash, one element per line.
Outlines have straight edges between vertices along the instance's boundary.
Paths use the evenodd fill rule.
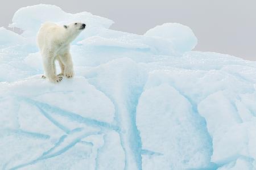
<path fill-rule="evenodd" d="M 57 25 L 44 23 L 39 29 L 36 41 L 43 58 L 44 73 L 51 82 L 60 82 L 62 76 L 74 76 L 73 62 L 69 53 L 70 43 L 85 29 L 84 23 Z M 55 60 L 59 62 L 61 73 L 56 75 Z"/>

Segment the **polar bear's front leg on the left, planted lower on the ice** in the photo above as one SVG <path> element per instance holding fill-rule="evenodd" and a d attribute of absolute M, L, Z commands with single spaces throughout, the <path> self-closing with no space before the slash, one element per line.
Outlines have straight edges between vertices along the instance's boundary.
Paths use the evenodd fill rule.
<path fill-rule="evenodd" d="M 56 75 L 54 56 L 51 54 L 43 55 L 43 66 L 46 78 L 51 82 L 60 82 L 62 80 L 61 76 Z"/>

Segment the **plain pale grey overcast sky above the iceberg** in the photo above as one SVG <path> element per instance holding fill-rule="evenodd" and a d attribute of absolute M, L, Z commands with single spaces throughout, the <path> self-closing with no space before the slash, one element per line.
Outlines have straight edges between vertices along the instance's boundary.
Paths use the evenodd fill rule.
<path fill-rule="evenodd" d="M 114 20 L 112 29 L 137 34 L 167 22 L 185 24 L 199 39 L 196 50 L 256 60 L 255 0 L 7 0 L 0 2 L 0 27 L 11 23 L 18 8 L 39 3 L 104 16 Z"/>

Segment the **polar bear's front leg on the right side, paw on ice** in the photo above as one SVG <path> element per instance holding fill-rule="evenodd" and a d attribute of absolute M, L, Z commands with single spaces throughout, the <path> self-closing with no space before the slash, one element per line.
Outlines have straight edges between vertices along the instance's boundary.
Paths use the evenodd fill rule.
<path fill-rule="evenodd" d="M 71 58 L 71 54 L 69 52 L 65 53 L 63 56 L 60 57 L 61 62 L 64 64 L 64 75 L 67 78 L 72 78 L 74 76 L 73 70 L 73 61 Z"/>

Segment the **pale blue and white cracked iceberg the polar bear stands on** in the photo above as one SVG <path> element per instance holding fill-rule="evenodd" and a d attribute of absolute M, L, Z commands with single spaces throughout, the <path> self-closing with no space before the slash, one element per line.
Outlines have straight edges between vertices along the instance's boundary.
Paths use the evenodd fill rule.
<path fill-rule="evenodd" d="M 40 24 L 77 20 L 75 78 L 41 79 Z M 256 63 L 192 52 L 181 24 L 112 24 L 37 5 L 0 28 L 0 169 L 255 169 Z"/>

